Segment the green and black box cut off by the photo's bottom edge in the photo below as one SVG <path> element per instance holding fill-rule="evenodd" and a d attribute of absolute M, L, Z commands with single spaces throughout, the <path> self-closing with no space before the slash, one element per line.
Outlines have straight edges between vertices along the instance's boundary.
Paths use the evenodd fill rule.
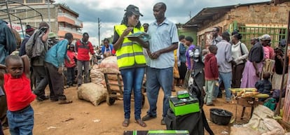
<path fill-rule="evenodd" d="M 186 130 L 125 131 L 123 135 L 189 135 Z"/>

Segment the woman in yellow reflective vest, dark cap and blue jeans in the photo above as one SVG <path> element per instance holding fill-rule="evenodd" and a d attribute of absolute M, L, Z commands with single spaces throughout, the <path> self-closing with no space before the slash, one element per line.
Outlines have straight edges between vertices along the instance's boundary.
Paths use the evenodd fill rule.
<path fill-rule="evenodd" d="M 123 78 L 124 94 L 123 106 L 125 120 L 123 127 L 130 123 L 130 104 L 131 92 L 134 90 L 134 118 L 135 122 L 141 127 L 146 127 L 145 122 L 141 120 L 141 85 L 144 78 L 146 59 L 143 54 L 143 48 L 148 48 L 149 43 L 139 38 L 127 38 L 127 35 L 144 32 L 141 26 L 139 8 L 134 5 L 127 6 L 125 15 L 121 24 L 115 25 L 113 36 L 113 48 L 116 50 L 118 67 Z"/>

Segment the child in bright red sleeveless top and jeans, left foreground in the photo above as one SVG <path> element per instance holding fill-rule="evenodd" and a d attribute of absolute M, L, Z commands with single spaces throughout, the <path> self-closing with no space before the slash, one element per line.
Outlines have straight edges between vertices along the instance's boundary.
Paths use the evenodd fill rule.
<path fill-rule="evenodd" d="M 22 59 L 21 59 L 22 58 Z M 32 134 L 34 111 L 30 103 L 36 98 L 32 94 L 29 80 L 29 58 L 10 55 L 6 57 L 7 73 L 0 73 L 4 79 L 4 90 L 7 97 L 7 118 L 12 135 Z"/>

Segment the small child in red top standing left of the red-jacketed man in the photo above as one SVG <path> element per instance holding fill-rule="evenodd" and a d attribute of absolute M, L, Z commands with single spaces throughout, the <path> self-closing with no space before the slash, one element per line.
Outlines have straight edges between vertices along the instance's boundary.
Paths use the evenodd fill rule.
<path fill-rule="evenodd" d="M 67 56 L 70 62 L 65 60 L 65 67 L 67 67 L 67 87 L 73 86 L 74 84 L 74 69 L 76 68 L 76 53 L 74 52 L 74 45 L 69 45 L 69 50 L 67 50 Z"/>

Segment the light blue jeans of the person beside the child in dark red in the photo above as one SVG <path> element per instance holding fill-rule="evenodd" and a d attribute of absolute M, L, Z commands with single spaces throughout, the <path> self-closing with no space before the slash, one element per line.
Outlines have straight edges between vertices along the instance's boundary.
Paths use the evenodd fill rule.
<path fill-rule="evenodd" d="M 223 85 L 225 85 L 226 90 L 226 101 L 230 101 L 230 97 L 232 92 L 230 92 L 230 85 L 232 83 L 232 72 L 228 73 L 221 73 L 219 72 L 219 84 L 223 82 Z M 219 87 L 216 86 L 214 89 L 213 97 L 216 98 L 219 94 Z"/>

